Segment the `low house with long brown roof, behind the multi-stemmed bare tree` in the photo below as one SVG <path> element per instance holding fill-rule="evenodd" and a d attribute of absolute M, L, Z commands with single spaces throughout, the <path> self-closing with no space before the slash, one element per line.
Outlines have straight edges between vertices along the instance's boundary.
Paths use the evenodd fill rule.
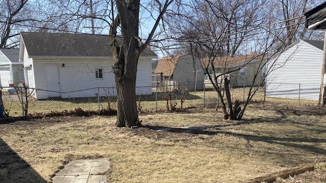
<path fill-rule="evenodd" d="M 211 58 L 213 59 L 213 58 Z M 230 80 L 231 87 L 243 87 L 255 86 L 263 84 L 263 79 L 265 77 L 265 62 L 267 60 L 267 55 L 239 55 L 239 56 L 218 56 L 213 59 L 213 65 L 216 75 L 221 75 L 218 78 L 219 84 L 224 83 L 225 75 Z M 208 73 L 205 77 L 205 84 L 211 84 L 208 74 L 213 76 L 213 70 L 211 62 L 208 58 L 201 60 L 203 67 L 208 66 Z M 227 73 L 223 75 L 223 73 Z M 255 75 L 256 78 L 255 78 Z M 254 81 L 255 79 L 255 81 Z"/>

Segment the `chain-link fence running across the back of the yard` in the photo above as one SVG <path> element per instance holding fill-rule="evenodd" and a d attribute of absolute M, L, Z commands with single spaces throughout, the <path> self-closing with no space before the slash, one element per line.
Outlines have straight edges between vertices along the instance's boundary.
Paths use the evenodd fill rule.
<path fill-rule="evenodd" d="M 253 98 L 263 101 L 265 97 L 314 99 L 318 100 L 319 85 L 302 83 L 274 83 L 264 87 L 230 88 L 232 101 L 246 101 L 248 94 L 257 92 Z M 27 94 L 27 95 L 26 95 Z M 136 102 L 139 111 L 158 111 L 180 109 L 191 106 L 205 106 L 218 103 L 218 95 L 211 84 L 186 85 L 156 85 L 136 88 Z M 266 96 L 265 96 L 266 94 Z M 3 87 L 2 107 L 0 116 L 24 116 L 28 113 L 48 114 L 51 112 L 67 112 L 76 109 L 98 111 L 117 108 L 117 90 L 115 87 L 95 87 L 64 92 L 50 91 L 37 88 Z M 317 97 L 318 96 L 318 97 Z M 314 98 L 312 98 L 314 97 Z M 268 101 L 268 99 L 266 99 Z M 28 101 L 28 106 L 26 106 Z"/>

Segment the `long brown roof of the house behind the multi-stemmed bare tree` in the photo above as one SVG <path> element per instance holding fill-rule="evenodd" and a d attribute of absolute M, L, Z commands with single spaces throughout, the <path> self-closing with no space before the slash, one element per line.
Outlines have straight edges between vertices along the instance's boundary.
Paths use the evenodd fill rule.
<path fill-rule="evenodd" d="M 214 67 L 232 67 L 239 64 L 245 64 L 254 59 L 261 59 L 263 54 L 250 54 L 250 55 L 239 55 L 239 56 L 218 56 L 215 58 L 203 58 L 200 60 L 203 67 L 208 66 L 209 62 L 213 60 Z"/>

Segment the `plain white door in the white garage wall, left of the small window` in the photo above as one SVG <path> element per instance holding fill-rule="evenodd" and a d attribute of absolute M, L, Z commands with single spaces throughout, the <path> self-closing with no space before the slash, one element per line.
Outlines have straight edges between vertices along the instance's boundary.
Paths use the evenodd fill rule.
<path fill-rule="evenodd" d="M 59 66 L 49 65 L 45 66 L 46 71 L 46 81 L 47 89 L 49 92 L 49 97 L 60 97 L 60 80 L 59 80 Z"/>

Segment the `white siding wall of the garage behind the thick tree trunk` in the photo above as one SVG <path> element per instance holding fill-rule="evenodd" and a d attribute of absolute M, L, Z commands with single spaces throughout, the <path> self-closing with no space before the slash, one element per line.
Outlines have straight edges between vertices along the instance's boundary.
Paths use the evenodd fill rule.
<path fill-rule="evenodd" d="M 48 88 L 46 80 L 46 65 L 58 65 L 60 75 L 60 89 L 63 94 L 62 98 L 72 97 L 96 97 L 108 95 L 116 95 L 115 75 L 112 71 L 114 60 L 111 59 L 84 59 L 61 58 L 61 59 L 41 59 L 33 60 L 35 76 L 35 88 Z M 62 66 L 64 64 L 64 67 Z M 95 78 L 95 69 L 102 69 L 103 78 Z M 29 75 L 29 78 L 31 76 Z M 140 59 L 138 65 L 136 86 L 151 86 L 151 66 L 150 59 Z M 97 87 L 102 87 L 98 89 Z M 95 88 L 95 89 L 90 89 Z M 110 89 L 109 89 L 110 88 Z M 141 87 L 137 89 L 137 94 L 151 94 L 151 87 Z M 48 98 L 47 91 L 38 90 L 37 99 Z M 79 90 L 78 92 L 72 92 Z"/>

